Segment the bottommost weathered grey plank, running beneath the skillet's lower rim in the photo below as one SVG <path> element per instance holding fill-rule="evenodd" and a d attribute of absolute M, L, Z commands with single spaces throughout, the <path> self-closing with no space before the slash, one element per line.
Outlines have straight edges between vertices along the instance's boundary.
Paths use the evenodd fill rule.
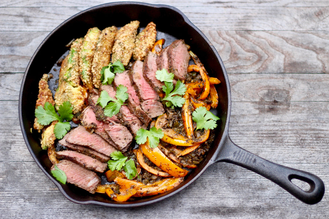
<path fill-rule="evenodd" d="M 328 164 L 312 165 L 329 168 Z M 328 194 L 316 206 L 303 204 L 274 183 L 227 163 L 210 166 L 173 197 L 131 209 L 74 204 L 34 162 L 0 162 L 0 174 L 1 218 L 324 218 L 329 204 Z"/>

